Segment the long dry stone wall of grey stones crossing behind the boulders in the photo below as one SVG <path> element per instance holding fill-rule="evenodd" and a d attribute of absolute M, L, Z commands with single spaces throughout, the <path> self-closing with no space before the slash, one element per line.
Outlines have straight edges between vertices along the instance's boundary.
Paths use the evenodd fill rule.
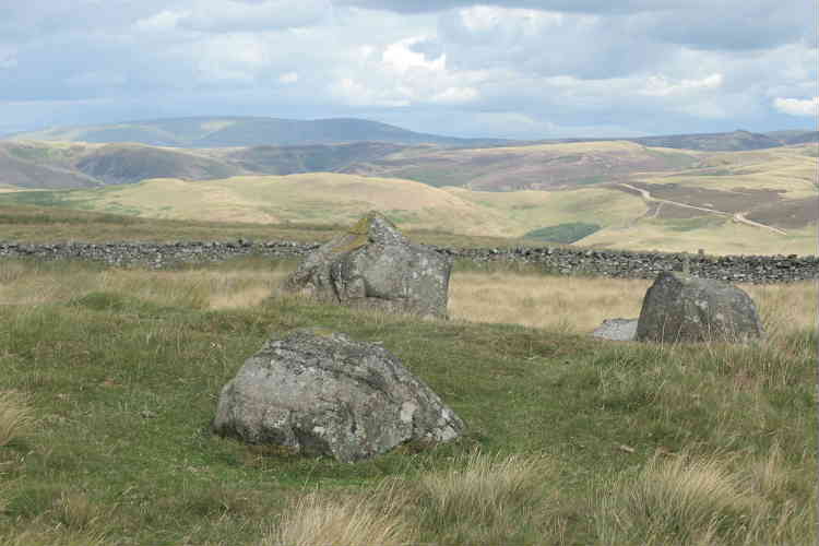
<path fill-rule="evenodd" d="M 0 241 L 0 259 L 31 257 L 44 260 L 94 260 L 110 265 L 175 266 L 186 262 L 221 261 L 239 256 L 301 258 L 320 244 L 293 241 L 108 242 L 28 245 Z M 739 283 L 786 283 L 819 278 L 816 256 L 700 256 L 657 252 L 589 250 L 563 247 L 442 248 L 437 252 L 477 264 L 510 262 L 535 264 L 565 275 L 654 278 L 663 271 L 681 271 L 686 260 L 691 274 Z"/>

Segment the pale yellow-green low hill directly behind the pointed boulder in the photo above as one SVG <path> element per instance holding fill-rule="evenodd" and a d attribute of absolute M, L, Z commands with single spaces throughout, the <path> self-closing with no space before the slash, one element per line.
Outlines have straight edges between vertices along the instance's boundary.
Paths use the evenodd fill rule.
<path fill-rule="evenodd" d="M 619 226 L 645 211 L 639 198 L 610 189 L 471 192 L 411 180 L 335 174 L 206 181 L 157 179 L 98 190 L 17 193 L 0 198 L 3 202 L 164 219 L 259 224 L 348 224 L 377 209 L 405 229 L 494 237 L 519 237 L 543 227 L 544 222 L 571 222 L 578 215 L 597 212 L 597 223 Z"/>

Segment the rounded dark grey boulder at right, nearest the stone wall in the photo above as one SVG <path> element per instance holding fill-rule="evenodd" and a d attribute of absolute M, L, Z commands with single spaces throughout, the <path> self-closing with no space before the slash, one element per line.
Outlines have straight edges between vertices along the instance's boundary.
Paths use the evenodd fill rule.
<path fill-rule="evenodd" d="M 661 273 L 645 293 L 637 340 L 745 342 L 763 334 L 753 300 L 722 281 Z"/>

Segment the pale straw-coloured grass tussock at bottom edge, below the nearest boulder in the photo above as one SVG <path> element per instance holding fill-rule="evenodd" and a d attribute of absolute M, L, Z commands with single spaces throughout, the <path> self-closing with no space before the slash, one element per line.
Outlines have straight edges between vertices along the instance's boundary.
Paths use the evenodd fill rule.
<path fill-rule="evenodd" d="M 417 532 L 401 514 L 405 505 L 395 483 L 383 483 L 367 497 L 330 498 L 314 491 L 292 502 L 260 546 L 412 544 Z"/>

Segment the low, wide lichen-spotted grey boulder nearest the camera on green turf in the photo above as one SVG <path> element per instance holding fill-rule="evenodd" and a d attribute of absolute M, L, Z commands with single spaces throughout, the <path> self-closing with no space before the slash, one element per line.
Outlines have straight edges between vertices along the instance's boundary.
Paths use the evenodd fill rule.
<path fill-rule="evenodd" d="M 222 389 L 213 429 L 352 462 L 404 442 L 452 440 L 464 424 L 380 344 L 301 329 L 245 361 Z"/>

